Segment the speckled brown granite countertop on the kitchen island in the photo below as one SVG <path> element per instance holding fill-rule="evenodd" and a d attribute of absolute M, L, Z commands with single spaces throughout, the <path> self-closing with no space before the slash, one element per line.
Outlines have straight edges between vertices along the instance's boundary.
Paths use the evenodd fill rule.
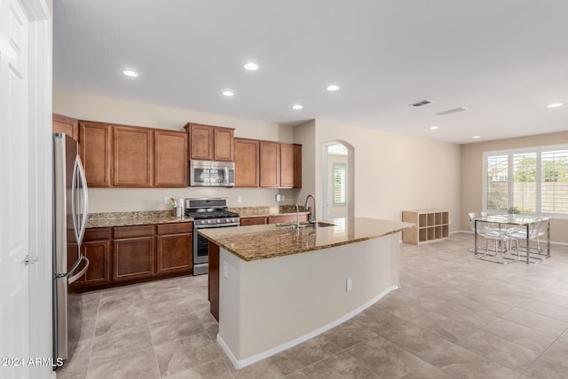
<path fill-rule="evenodd" d="M 335 220 L 335 226 L 305 227 L 299 230 L 278 225 L 201 229 L 209 241 L 245 261 L 284 257 L 380 238 L 414 226 L 400 221 L 355 217 Z"/>

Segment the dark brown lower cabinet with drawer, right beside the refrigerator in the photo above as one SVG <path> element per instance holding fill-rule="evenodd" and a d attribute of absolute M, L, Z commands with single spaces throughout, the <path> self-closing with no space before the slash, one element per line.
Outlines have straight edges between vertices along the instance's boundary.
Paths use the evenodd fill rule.
<path fill-rule="evenodd" d="M 81 279 L 81 287 L 110 283 L 110 233 L 108 227 L 85 231 L 81 253 L 89 259 L 89 268 Z"/>

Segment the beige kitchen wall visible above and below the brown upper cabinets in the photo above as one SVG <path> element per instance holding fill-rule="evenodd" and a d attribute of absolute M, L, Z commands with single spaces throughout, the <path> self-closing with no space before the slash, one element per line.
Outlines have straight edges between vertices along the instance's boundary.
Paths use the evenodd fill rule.
<path fill-rule="evenodd" d="M 53 112 L 80 120 L 114 122 L 160 129 L 184 130 L 186 122 L 201 122 L 235 128 L 235 137 L 294 142 L 294 129 L 271 122 L 258 122 L 218 114 L 204 114 L 184 109 L 160 107 L 120 99 L 100 98 L 72 92 L 53 93 Z M 301 143 L 301 142 L 300 142 Z M 309 155 L 308 155 L 309 156 Z M 271 206 L 294 204 L 297 190 L 237 188 L 91 188 L 90 212 L 171 209 L 164 196 L 226 197 L 229 206 Z M 282 193 L 286 201 L 276 202 Z M 237 202 L 241 195 L 242 202 Z"/>

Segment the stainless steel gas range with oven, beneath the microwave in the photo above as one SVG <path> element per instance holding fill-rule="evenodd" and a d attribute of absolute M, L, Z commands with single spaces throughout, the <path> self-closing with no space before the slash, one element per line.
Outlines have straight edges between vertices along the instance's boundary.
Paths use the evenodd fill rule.
<path fill-rule="evenodd" d="M 200 229 L 241 225 L 238 213 L 227 210 L 226 199 L 185 199 L 185 216 L 193 217 L 193 275 L 209 271 L 209 241 Z"/>

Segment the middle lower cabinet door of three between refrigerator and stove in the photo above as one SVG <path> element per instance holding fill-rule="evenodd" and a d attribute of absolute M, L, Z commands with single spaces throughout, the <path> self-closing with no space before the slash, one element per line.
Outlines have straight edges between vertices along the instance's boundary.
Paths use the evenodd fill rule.
<path fill-rule="evenodd" d="M 154 235 L 113 241 L 113 280 L 154 276 Z"/>

